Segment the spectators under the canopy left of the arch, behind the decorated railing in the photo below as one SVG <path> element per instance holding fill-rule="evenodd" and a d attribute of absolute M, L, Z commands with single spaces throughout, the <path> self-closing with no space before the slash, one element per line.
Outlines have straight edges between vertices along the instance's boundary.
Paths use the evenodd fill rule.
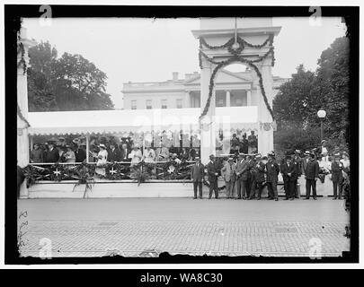
<path fill-rule="evenodd" d="M 194 161 L 199 156 L 200 149 L 174 147 L 161 144 L 160 147 L 139 146 L 130 138 L 116 141 L 93 138 L 89 146 L 88 161 L 99 164 L 106 162 L 129 161 L 136 164 L 139 161 Z M 64 137 L 49 140 L 46 143 L 34 143 L 31 150 L 31 162 L 84 162 L 86 161 L 86 143 L 78 139 L 66 141 Z"/>

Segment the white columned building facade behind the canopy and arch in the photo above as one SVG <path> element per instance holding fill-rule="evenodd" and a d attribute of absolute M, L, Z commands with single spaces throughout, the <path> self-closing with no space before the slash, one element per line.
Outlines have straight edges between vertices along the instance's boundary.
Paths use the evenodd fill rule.
<path fill-rule="evenodd" d="M 232 73 L 221 70 L 215 85 L 216 107 L 249 107 L 258 105 L 251 71 Z M 273 98 L 288 79 L 273 76 Z M 124 83 L 124 109 L 200 108 L 200 73 L 173 73 L 172 80 L 156 83 Z"/>

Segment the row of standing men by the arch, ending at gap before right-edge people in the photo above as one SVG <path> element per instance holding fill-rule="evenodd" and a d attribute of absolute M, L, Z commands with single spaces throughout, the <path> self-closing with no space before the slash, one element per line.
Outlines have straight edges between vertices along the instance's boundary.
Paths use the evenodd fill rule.
<path fill-rule="evenodd" d="M 268 198 L 278 201 L 278 176 L 281 173 L 286 200 L 294 200 L 297 195 L 297 179 L 305 173 L 306 199 L 309 199 L 311 189 L 316 199 L 316 180 L 318 179 L 319 165 L 315 160 L 315 154 L 308 152 L 301 158 L 299 151 L 295 155 L 287 156 L 280 164 L 275 159 L 275 153 L 269 152 L 268 156 L 239 154 L 237 162 L 229 158 L 220 170 L 214 155 L 209 156 L 206 167 L 200 159 L 192 167 L 191 178 L 193 181 L 194 198 L 197 198 L 197 189 L 202 198 L 202 180 L 205 169 L 209 178 L 209 198 L 215 193 L 218 198 L 218 176 L 219 171 L 226 182 L 226 197 L 235 199 L 262 198 L 262 190 L 268 187 Z M 236 196 L 235 196 L 236 192 Z"/>

